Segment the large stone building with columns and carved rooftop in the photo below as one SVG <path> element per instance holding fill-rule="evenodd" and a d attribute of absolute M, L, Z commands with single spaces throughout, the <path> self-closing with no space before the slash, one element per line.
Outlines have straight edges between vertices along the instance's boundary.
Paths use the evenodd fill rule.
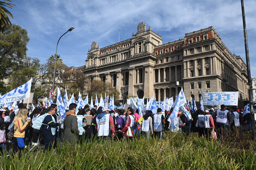
<path fill-rule="evenodd" d="M 217 91 L 239 91 L 239 99 L 248 100 L 245 62 L 231 54 L 213 27 L 162 44 L 159 34 L 139 23 L 131 39 L 104 48 L 94 41 L 83 72 L 89 82 L 102 80 L 140 98 L 154 95 L 160 101 L 183 87 L 196 101 L 202 92 Z"/>

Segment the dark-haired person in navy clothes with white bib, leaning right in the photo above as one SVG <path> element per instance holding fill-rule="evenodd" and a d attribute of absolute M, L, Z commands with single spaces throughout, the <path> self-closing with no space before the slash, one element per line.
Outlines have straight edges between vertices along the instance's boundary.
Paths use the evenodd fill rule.
<path fill-rule="evenodd" d="M 45 150 L 51 149 L 54 144 L 56 128 L 59 125 L 59 123 L 57 123 L 53 117 L 55 112 L 56 109 L 51 106 L 48 109 L 48 112 L 45 114 L 46 116 L 44 121 L 42 121 L 42 139 L 45 143 Z"/>

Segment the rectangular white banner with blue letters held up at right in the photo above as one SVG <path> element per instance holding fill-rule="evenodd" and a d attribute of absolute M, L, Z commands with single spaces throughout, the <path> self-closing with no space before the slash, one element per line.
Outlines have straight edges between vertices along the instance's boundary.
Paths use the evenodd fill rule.
<path fill-rule="evenodd" d="M 232 92 L 210 92 L 203 93 L 204 105 L 227 105 L 237 106 L 238 104 L 238 91 Z"/>

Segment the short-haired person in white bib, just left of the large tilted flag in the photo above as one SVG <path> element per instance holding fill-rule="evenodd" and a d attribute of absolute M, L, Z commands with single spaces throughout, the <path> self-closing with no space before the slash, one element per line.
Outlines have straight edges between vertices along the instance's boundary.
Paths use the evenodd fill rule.
<path fill-rule="evenodd" d="M 166 121 L 164 120 L 164 116 L 162 115 L 162 109 L 157 108 L 157 114 L 154 115 L 154 133 L 155 137 L 159 138 L 159 140 L 161 140 L 162 137 L 164 124 L 166 124 Z"/>

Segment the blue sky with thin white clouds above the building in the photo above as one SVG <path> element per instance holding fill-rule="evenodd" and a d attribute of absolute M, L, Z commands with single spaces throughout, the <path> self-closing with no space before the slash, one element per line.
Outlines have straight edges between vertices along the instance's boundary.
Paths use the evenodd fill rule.
<path fill-rule="evenodd" d="M 29 36 L 27 55 L 41 63 L 54 55 L 59 37 L 70 27 L 58 45 L 58 55 L 68 66 L 86 64 L 93 41 L 106 47 L 130 39 L 140 22 L 162 36 L 163 43 L 183 39 L 185 33 L 213 26 L 231 53 L 245 59 L 241 1 L 87 1 L 87 0 L 13 0 L 9 9 L 17 24 Z M 256 77 L 256 1 L 245 0 L 252 78 Z"/>

